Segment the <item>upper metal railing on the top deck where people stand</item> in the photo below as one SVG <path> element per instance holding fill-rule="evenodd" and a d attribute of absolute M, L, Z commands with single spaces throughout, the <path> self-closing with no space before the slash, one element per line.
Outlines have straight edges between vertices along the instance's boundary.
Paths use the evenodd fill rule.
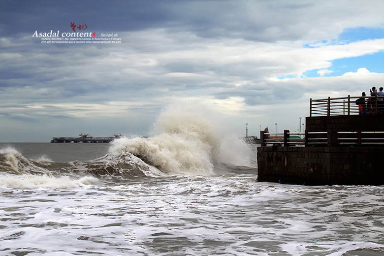
<path fill-rule="evenodd" d="M 359 106 L 355 100 L 362 96 L 347 96 L 339 98 L 310 99 L 309 115 L 315 116 L 336 116 L 336 115 L 358 115 Z M 365 96 L 367 112 L 377 114 L 378 111 L 384 111 L 382 105 L 378 105 L 378 98 L 384 96 Z M 379 100 L 380 101 L 380 100 Z M 380 103 L 380 102 L 379 102 Z M 371 107 L 372 104 L 372 107 Z M 369 106 L 368 106 L 369 105 Z M 367 114 L 368 114 L 367 113 Z"/>

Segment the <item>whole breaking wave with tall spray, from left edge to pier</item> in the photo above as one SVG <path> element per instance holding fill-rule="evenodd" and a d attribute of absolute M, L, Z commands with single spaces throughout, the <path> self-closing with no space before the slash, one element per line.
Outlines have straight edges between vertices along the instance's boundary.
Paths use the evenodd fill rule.
<path fill-rule="evenodd" d="M 114 140 L 108 154 L 91 161 L 55 162 L 47 156 L 31 160 L 11 147 L 0 149 L 0 187 L 66 188 L 99 179 L 209 176 L 255 165 L 249 145 L 225 134 L 214 117 L 196 104 L 171 105 L 160 114 L 152 136 Z"/>

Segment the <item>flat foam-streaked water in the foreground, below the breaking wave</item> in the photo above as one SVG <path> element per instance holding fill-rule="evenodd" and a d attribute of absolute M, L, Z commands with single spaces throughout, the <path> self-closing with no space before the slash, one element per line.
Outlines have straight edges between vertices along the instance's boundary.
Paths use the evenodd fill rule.
<path fill-rule="evenodd" d="M 1 189 L 0 252 L 383 255 L 383 187 L 255 179 L 175 175 L 70 190 Z"/>

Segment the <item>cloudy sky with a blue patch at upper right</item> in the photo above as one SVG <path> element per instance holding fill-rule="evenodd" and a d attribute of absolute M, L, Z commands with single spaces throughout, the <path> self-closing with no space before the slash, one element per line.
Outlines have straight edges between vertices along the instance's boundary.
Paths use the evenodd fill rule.
<path fill-rule="evenodd" d="M 0 142 L 148 136 L 180 102 L 239 136 L 246 124 L 248 135 L 297 131 L 310 98 L 383 86 L 383 10 L 383 0 L 1 0 Z"/>

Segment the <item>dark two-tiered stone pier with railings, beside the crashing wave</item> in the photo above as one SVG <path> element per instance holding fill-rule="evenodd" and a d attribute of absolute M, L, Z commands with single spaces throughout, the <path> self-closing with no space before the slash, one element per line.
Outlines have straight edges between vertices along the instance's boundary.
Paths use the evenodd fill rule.
<path fill-rule="evenodd" d="M 328 98 L 323 112 L 310 111 L 305 132 L 299 134 L 302 139 L 290 139 L 291 134 L 298 133 L 289 130 L 282 139 L 261 131 L 258 181 L 384 185 L 384 115 L 377 109 L 371 115 L 359 115 L 351 98 L 345 98 L 343 105 L 332 105 L 340 98 Z"/>

